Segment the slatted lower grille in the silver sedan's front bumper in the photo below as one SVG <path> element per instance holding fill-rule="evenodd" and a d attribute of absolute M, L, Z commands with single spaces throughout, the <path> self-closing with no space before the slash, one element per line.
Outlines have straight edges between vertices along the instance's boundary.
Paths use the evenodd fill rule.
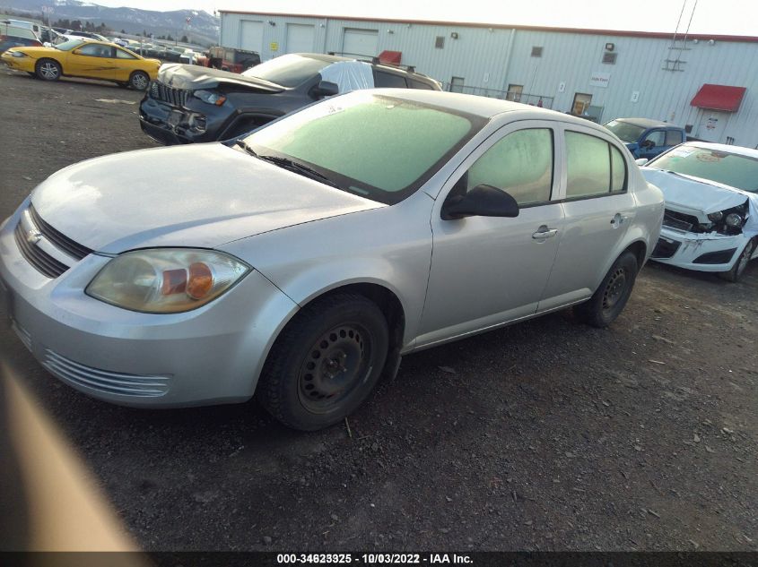
<path fill-rule="evenodd" d="M 169 391 L 170 375 L 139 375 L 100 370 L 45 349 L 42 365 L 64 382 L 106 394 L 159 398 Z"/>

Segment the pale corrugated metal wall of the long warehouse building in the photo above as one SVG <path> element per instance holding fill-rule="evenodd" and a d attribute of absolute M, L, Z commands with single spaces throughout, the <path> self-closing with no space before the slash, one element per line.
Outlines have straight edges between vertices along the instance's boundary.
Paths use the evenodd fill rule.
<path fill-rule="evenodd" d="M 248 13 L 221 16 L 221 44 L 226 47 L 240 47 L 240 21 L 263 21 L 260 55 L 264 61 L 287 53 L 286 24 L 290 22 L 315 26 L 313 50 L 320 53 L 342 52 L 345 29 L 377 30 L 379 51 L 400 51 L 403 64 L 415 65 L 419 72 L 443 83 L 459 77 L 466 87 L 476 92 L 490 90 L 491 95 L 510 84 L 521 85 L 524 93 L 551 99 L 553 109 L 562 112 L 571 110 L 575 93 L 587 93 L 592 96 L 593 111 L 602 112 L 597 116 L 601 122 L 618 116 L 656 118 L 692 125 L 692 135 L 703 139 L 727 142 L 729 137 L 737 145 L 758 147 L 755 42 L 689 40 L 686 49 L 672 52 L 671 39 L 613 34 Z M 435 47 L 437 38 L 443 38 L 443 47 Z M 602 63 L 606 43 L 614 44 L 615 64 Z M 684 43 L 677 41 L 677 46 Z M 542 56 L 532 56 L 533 47 L 542 47 Z M 665 60 L 677 56 L 684 62 L 679 64 L 683 71 L 664 70 Z M 597 77 L 606 87 L 597 86 Z M 718 115 L 727 121 L 723 129 L 707 131 L 703 124 L 709 111 L 690 106 L 704 83 L 747 89 L 736 113 Z M 632 101 L 633 93 L 636 101 Z"/>

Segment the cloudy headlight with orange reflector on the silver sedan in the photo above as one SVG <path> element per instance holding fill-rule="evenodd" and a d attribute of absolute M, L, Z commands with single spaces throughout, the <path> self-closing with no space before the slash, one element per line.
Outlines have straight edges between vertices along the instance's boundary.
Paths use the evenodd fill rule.
<path fill-rule="evenodd" d="M 250 270 L 246 263 L 211 250 L 136 250 L 108 262 L 85 293 L 132 311 L 179 313 L 213 301 Z"/>

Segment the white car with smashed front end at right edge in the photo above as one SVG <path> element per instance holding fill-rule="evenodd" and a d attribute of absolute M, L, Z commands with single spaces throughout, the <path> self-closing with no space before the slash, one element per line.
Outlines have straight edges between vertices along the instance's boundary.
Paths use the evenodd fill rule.
<path fill-rule="evenodd" d="M 758 150 L 686 142 L 644 165 L 666 200 L 652 259 L 737 281 L 758 256 Z"/>

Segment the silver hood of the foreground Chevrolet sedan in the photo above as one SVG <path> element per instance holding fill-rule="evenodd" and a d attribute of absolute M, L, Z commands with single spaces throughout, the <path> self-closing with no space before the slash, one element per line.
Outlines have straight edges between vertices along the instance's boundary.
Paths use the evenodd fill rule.
<path fill-rule="evenodd" d="M 129 151 L 48 177 L 39 216 L 102 253 L 213 248 L 247 236 L 384 207 L 220 143 Z"/>

